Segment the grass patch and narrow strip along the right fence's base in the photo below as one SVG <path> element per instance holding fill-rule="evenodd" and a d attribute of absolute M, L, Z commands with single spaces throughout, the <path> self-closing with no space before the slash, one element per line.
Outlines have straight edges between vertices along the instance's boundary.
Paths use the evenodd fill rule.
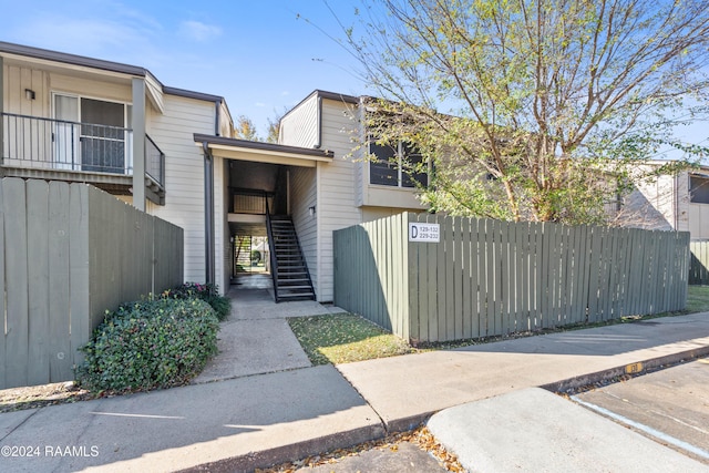
<path fill-rule="evenodd" d="M 687 309 L 681 312 L 647 317 L 627 317 L 607 323 L 633 322 L 645 318 L 681 316 L 693 312 L 709 312 L 709 286 L 689 286 Z M 288 323 L 290 323 L 290 328 L 312 364 L 349 363 L 352 361 L 424 351 L 409 346 L 407 341 L 395 335 L 388 332 L 357 315 L 346 313 L 291 318 L 288 319 Z M 602 325 L 606 323 L 575 325 L 573 327 L 559 328 L 558 330 L 577 330 Z M 548 332 L 549 330 L 544 331 L 544 333 Z M 511 337 L 526 337 L 530 335 L 538 333 L 525 332 Z M 432 343 L 427 345 L 425 350 L 454 348 L 464 345 L 495 341 L 502 338 L 504 337 L 491 337 L 485 340 L 462 340 L 450 343 Z"/>

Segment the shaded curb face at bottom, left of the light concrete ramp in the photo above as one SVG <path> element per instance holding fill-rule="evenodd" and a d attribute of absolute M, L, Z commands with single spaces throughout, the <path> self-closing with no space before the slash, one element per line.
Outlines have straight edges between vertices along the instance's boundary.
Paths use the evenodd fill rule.
<path fill-rule="evenodd" d="M 261 452 L 251 452 L 230 459 L 223 459 L 212 463 L 204 463 L 181 473 L 249 473 L 254 469 L 265 469 L 294 460 L 305 459 L 338 449 L 346 449 L 360 443 L 382 439 L 387 435 L 383 423 L 377 425 L 337 432 L 318 439 L 291 443 Z"/>

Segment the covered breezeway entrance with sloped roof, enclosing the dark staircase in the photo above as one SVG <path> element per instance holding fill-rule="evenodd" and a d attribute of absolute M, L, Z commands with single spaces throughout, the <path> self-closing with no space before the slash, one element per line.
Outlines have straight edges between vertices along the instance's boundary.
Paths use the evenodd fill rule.
<path fill-rule="evenodd" d="M 240 274 L 253 273 L 251 260 L 260 256 L 256 269 L 271 276 L 277 301 L 316 299 L 308 267 L 317 264 L 317 254 L 304 251 L 298 235 L 315 234 L 317 166 L 331 162 L 332 153 L 209 135 L 195 141 L 212 176 L 205 184 L 207 279 L 227 291 Z M 255 248 L 263 241 L 267 251 Z"/>

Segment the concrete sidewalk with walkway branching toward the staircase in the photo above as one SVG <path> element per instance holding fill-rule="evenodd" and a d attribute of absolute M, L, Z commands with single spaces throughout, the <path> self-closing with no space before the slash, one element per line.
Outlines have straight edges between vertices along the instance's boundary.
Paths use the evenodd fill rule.
<path fill-rule="evenodd" d="M 372 440 L 493 395 L 709 353 L 709 313 L 702 313 L 311 367 L 282 330 L 284 317 L 333 310 L 243 298 L 219 335 L 220 358 L 196 380 L 205 382 L 0 414 L 0 446 L 37 453 L 0 456 L 0 471 L 250 471 Z"/>

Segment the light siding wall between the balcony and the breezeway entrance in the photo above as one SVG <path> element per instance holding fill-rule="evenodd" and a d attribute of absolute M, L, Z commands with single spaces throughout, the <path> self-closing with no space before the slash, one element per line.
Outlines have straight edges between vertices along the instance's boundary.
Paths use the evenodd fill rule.
<path fill-rule="evenodd" d="M 165 113 L 153 115 L 150 126 L 165 153 L 165 205 L 154 215 L 184 229 L 185 280 L 199 282 L 205 281 L 204 157 L 193 135 L 214 134 L 214 103 L 176 95 L 165 95 Z"/>

